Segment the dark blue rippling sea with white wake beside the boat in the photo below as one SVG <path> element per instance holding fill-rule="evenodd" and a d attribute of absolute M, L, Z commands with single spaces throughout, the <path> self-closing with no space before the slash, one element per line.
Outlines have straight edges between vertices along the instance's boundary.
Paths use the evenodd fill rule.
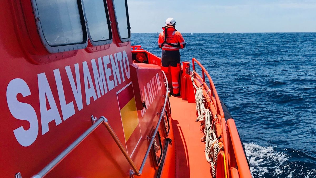
<path fill-rule="evenodd" d="M 131 43 L 161 56 L 158 35 L 133 33 Z M 210 73 L 252 176 L 316 177 L 316 33 L 182 35 L 181 61 L 195 57 Z"/>

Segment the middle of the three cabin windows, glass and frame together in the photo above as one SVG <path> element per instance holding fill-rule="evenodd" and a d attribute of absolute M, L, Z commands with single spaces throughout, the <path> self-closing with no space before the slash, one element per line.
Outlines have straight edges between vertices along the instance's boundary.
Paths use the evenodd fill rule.
<path fill-rule="evenodd" d="M 93 46 L 107 44 L 112 39 L 111 25 L 106 2 L 104 0 L 83 0 L 85 14 L 88 21 L 88 35 Z M 111 43 L 109 41 L 108 43 Z"/>

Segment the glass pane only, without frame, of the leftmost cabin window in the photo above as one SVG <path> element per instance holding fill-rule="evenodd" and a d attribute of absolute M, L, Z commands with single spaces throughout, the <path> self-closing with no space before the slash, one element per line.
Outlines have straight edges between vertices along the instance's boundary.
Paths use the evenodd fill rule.
<path fill-rule="evenodd" d="M 82 43 L 83 31 L 76 0 L 36 1 L 40 24 L 50 46 Z"/>

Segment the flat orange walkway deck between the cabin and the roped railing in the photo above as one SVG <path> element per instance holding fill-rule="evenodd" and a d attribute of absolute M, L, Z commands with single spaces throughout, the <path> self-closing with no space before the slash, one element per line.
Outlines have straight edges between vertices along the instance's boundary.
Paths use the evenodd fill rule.
<path fill-rule="evenodd" d="M 196 105 L 180 97 L 169 97 L 176 148 L 176 177 L 211 177 L 210 164 L 205 159 L 203 132 L 195 122 Z"/>

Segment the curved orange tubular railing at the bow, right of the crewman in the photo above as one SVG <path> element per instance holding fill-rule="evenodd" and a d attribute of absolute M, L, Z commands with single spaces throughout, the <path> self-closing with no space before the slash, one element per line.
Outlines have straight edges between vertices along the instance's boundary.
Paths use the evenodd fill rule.
<path fill-rule="evenodd" d="M 212 100 L 212 102 L 214 103 L 214 106 L 216 108 L 216 112 L 219 113 L 221 115 L 222 118 L 224 118 L 224 111 L 221 105 L 221 101 L 217 95 L 216 89 L 215 89 L 215 85 L 213 83 L 213 80 L 211 79 L 209 73 L 206 71 L 206 69 L 203 67 L 203 65 L 195 58 L 192 58 L 192 67 L 193 70 L 195 70 L 195 65 L 194 62 L 196 62 L 202 69 L 202 76 L 203 78 L 197 73 L 197 72 L 193 72 L 195 74 L 195 76 L 197 76 L 200 80 L 203 81 L 203 85 L 204 87 L 207 89 L 208 94 L 210 95 L 210 98 Z M 205 83 L 205 74 L 207 76 L 207 78 L 210 81 L 210 87 Z"/>

